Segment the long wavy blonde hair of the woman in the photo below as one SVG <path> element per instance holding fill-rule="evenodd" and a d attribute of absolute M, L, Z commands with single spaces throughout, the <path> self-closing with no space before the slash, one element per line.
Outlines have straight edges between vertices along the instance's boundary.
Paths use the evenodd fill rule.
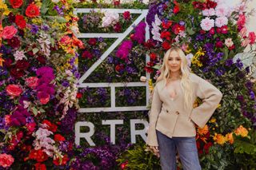
<path fill-rule="evenodd" d="M 182 49 L 178 47 L 172 47 L 168 49 L 163 57 L 163 63 L 162 67 L 160 69 L 161 74 L 158 77 L 157 82 L 162 84 L 162 87 L 166 86 L 167 83 L 167 78 L 170 77 L 170 69 L 168 66 L 168 59 L 170 56 L 170 52 L 176 51 L 182 59 L 182 64 L 181 64 L 181 72 L 182 72 L 182 80 L 181 80 L 181 85 L 182 85 L 182 91 L 184 92 L 184 99 L 185 99 L 185 106 L 186 109 L 192 109 L 193 107 L 193 101 L 192 101 L 192 88 L 191 88 L 191 82 L 189 79 L 190 76 L 190 67 L 187 65 L 186 61 L 186 56 L 185 53 L 182 51 Z"/>

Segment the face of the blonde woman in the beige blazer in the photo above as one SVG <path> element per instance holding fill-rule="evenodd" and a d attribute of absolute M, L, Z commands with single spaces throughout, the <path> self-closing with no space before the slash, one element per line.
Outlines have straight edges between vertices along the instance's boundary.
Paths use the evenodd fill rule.
<path fill-rule="evenodd" d="M 179 57 L 177 51 L 173 50 L 170 52 L 167 65 L 170 69 L 170 72 L 179 72 L 181 70 L 182 58 Z"/>

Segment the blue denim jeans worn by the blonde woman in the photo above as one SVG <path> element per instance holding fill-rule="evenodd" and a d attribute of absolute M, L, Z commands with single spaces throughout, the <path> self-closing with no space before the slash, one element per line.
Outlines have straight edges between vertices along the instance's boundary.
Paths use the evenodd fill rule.
<path fill-rule="evenodd" d="M 168 137 L 157 130 L 162 170 L 176 170 L 176 150 L 184 170 L 201 170 L 194 137 Z"/>

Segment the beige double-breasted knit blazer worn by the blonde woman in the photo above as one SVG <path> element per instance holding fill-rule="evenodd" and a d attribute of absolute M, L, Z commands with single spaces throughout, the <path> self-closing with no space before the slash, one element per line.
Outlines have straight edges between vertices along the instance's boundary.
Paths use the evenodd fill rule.
<path fill-rule="evenodd" d="M 222 99 L 222 93 L 194 73 L 190 73 L 190 80 L 194 92 L 192 100 L 195 101 L 197 97 L 202 99 L 202 105 L 190 110 L 184 107 L 182 91 L 179 91 L 174 100 L 171 100 L 165 87 L 159 83 L 155 85 L 146 144 L 158 146 L 156 129 L 169 137 L 195 136 L 194 124 L 202 128 L 209 121 Z"/>

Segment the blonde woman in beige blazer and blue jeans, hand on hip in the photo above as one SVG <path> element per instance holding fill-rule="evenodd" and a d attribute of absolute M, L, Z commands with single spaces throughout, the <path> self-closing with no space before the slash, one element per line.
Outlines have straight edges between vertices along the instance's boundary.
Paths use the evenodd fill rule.
<path fill-rule="evenodd" d="M 202 105 L 193 109 L 197 97 Z M 182 49 L 166 52 L 154 87 L 146 141 L 155 154 L 159 152 L 163 170 L 176 170 L 176 151 L 184 170 L 201 169 L 195 125 L 203 128 L 221 99 L 222 93 L 214 85 L 190 73 Z"/>

